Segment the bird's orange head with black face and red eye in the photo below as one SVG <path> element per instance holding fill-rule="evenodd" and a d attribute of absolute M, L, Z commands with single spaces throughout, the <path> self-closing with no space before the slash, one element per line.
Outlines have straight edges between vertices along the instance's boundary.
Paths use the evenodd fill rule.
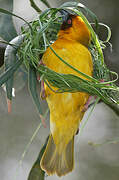
<path fill-rule="evenodd" d="M 81 44 L 88 46 L 91 36 L 87 25 L 80 16 L 73 15 L 65 10 L 61 10 L 63 23 L 58 37 L 68 40 L 79 41 Z"/>

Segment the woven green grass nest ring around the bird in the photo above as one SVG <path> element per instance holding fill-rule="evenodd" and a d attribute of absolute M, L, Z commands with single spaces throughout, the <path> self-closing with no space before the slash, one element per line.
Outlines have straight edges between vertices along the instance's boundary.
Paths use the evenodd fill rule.
<path fill-rule="evenodd" d="M 106 44 L 111 37 L 111 30 L 107 25 L 104 25 L 108 30 L 107 39 L 101 41 L 98 35 L 93 30 L 91 23 L 87 20 L 86 16 L 82 13 L 81 9 L 87 12 L 87 8 L 82 4 L 73 3 L 72 6 L 68 4 L 62 5 L 60 8 L 49 8 L 45 12 L 41 13 L 38 20 L 31 22 L 32 34 L 29 28 L 22 28 L 22 33 L 25 34 L 24 42 L 19 49 L 19 56 L 23 59 L 27 68 L 29 64 L 35 67 L 36 71 L 43 77 L 42 79 L 49 86 L 51 90 L 55 87 L 56 93 L 63 92 L 86 92 L 90 95 L 96 95 L 107 104 L 116 103 L 119 104 L 119 87 L 115 85 L 118 79 L 118 75 L 115 72 L 110 71 L 104 62 L 103 49 L 106 48 Z M 91 43 L 89 50 L 93 57 L 94 72 L 93 77 L 90 77 L 80 70 L 75 69 L 68 64 L 65 59 L 62 59 L 51 47 L 51 44 L 57 39 L 57 33 L 61 24 L 61 16 L 59 15 L 60 9 L 70 11 L 83 18 L 86 25 L 91 32 Z M 98 23 L 96 16 L 88 11 L 88 16 L 94 19 L 95 26 L 103 25 Z M 72 68 L 79 75 L 87 78 L 84 80 L 81 77 L 71 74 L 60 74 L 54 72 L 46 66 L 39 66 L 39 61 L 46 49 L 50 47 L 53 53 L 59 58 L 59 61 L 65 63 L 66 66 Z M 54 64 L 55 66 L 55 64 Z M 53 90 L 54 91 L 54 90 Z"/>

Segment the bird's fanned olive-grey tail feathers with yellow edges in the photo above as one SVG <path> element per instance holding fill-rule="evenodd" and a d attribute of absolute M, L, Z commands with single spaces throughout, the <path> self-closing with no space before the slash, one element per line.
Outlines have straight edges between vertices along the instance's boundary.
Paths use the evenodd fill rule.
<path fill-rule="evenodd" d="M 59 152 L 59 148 L 56 147 L 53 137 L 50 135 L 40 165 L 48 175 L 56 173 L 58 176 L 63 176 L 72 171 L 74 167 L 74 138 L 65 149 L 62 149 L 62 152 Z"/>

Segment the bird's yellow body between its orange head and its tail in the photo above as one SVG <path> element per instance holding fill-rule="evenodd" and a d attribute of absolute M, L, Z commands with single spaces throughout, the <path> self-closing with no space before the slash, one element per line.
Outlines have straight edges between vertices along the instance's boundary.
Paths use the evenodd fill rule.
<path fill-rule="evenodd" d="M 55 41 L 52 48 L 66 62 L 92 76 L 92 58 L 85 46 L 79 42 L 61 38 Z M 74 74 L 81 77 L 79 73 L 61 62 L 50 48 L 47 49 L 42 60 L 46 66 L 58 73 Z M 46 85 L 45 91 L 50 108 L 50 128 L 53 139 L 56 144 L 60 142 L 67 144 L 78 129 L 84 114 L 83 107 L 89 95 L 83 92 L 56 94 Z"/>

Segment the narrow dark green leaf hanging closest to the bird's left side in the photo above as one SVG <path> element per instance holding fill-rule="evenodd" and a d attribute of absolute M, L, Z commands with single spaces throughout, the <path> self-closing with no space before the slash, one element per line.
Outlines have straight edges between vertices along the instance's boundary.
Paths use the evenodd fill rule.
<path fill-rule="evenodd" d="M 37 93 L 37 76 L 36 76 L 36 69 L 29 65 L 29 72 L 28 72 L 28 85 L 29 85 L 29 91 L 32 96 L 32 99 L 37 107 L 38 112 L 42 115 L 42 109 L 41 104 L 39 101 L 39 96 Z"/>

